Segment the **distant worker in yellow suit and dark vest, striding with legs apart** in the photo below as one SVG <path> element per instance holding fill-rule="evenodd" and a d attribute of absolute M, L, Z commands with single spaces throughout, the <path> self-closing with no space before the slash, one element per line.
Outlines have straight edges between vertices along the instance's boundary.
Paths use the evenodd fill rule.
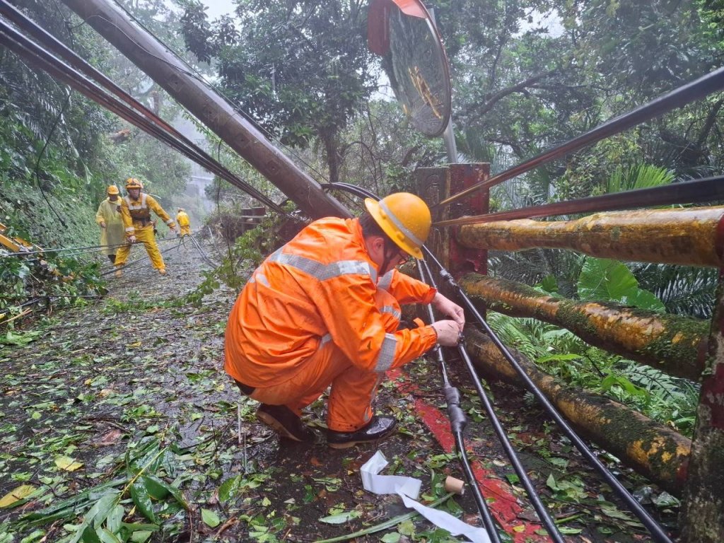
<path fill-rule="evenodd" d="M 135 177 L 126 180 L 127 195 L 121 199 L 121 215 L 125 226 L 127 244 L 122 245 L 116 254 L 116 277 L 121 277 L 121 266 L 126 263 L 131 245 L 136 242 L 146 245 L 146 253 L 151 258 L 151 264 L 159 270 L 159 274 L 166 275 L 166 264 L 153 237 L 153 222 L 151 211 L 161 217 L 169 228 L 176 232 L 176 224 L 169 214 L 159 205 L 153 196 L 142 193 L 143 184 Z"/>

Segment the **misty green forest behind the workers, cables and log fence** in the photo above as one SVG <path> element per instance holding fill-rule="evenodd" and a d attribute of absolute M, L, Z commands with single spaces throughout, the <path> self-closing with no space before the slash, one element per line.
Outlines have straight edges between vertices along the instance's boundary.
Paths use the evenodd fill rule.
<path fill-rule="evenodd" d="M 156 83 L 59 1 L 12 3 L 161 117 L 185 117 Z M 366 1 L 235 0 L 235 12 L 214 20 L 195 0 L 119 4 L 319 182 L 339 180 L 384 195 L 410 190 L 417 167 L 447 162 L 442 140 L 415 132 L 391 99 L 384 85 L 387 61 L 367 49 Z M 724 7 L 712 0 L 426 5 L 435 10 L 450 58 L 458 158 L 490 162 L 492 174 L 717 69 L 724 54 Z M 94 215 L 106 185 L 122 185 L 130 176 L 146 182 L 167 210 L 185 204 L 190 165 L 162 143 L 7 49 L 0 49 L 0 83 L 0 222 L 12 235 L 51 248 L 96 245 Z M 714 94 L 505 182 L 492 194 L 492 209 L 720 173 L 723 105 L 724 95 Z M 214 135 L 198 130 L 232 172 L 283 199 Z M 208 196 L 214 214 L 254 205 L 225 182 L 215 182 Z M 73 295 L 102 289 L 98 264 L 72 258 L 50 263 L 72 269 L 77 281 L 38 286 L 31 264 L 3 259 L 0 313 L 17 313 L 33 289 L 52 288 L 69 304 L 83 303 Z M 620 300 L 616 282 L 633 277 L 639 290 L 652 293 L 644 297 L 649 308 L 711 315 L 713 270 L 615 263 L 617 271 L 602 289 L 589 284 L 601 264 L 594 259 L 524 251 L 492 253 L 490 264 L 492 274 L 581 299 Z M 667 397 L 652 403 L 651 389 L 664 379 L 659 374 L 644 382 L 624 372 L 623 380 L 602 384 L 601 375 L 626 361 L 552 327 L 502 316 L 497 327 L 531 358 L 559 363 L 557 373 L 569 380 L 589 384 L 595 378 L 596 388 L 607 387 L 649 413 L 655 404 L 661 412 L 652 416 L 682 432 L 691 429 L 693 385 L 670 384 L 669 396 L 686 392 L 681 404 Z M 596 371 L 573 371 L 572 355 L 597 361 Z"/>

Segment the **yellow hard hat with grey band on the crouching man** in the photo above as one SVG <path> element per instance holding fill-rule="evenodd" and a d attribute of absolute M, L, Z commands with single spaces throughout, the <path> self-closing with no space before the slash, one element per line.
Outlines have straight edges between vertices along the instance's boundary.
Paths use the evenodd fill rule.
<path fill-rule="evenodd" d="M 397 246 L 415 258 L 422 258 L 420 248 L 427 240 L 432 216 L 422 198 L 411 193 L 394 193 L 379 202 L 365 198 L 364 205 Z"/>

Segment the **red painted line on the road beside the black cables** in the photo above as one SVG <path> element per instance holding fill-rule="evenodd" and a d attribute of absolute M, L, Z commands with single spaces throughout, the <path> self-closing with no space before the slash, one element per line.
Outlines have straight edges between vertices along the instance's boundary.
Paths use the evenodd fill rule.
<path fill-rule="evenodd" d="M 404 378 L 403 371 L 395 369 L 387 372 L 387 376 L 395 383 L 397 390 L 403 394 L 412 394 L 417 389 L 415 384 Z M 397 379 L 398 377 L 402 379 Z M 438 408 L 429 405 L 425 400 L 415 398 L 415 413 L 428 427 L 432 435 L 437 439 L 445 452 L 455 452 L 455 437 L 450 432 L 450 421 L 447 416 Z M 471 455 L 484 455 L 485 452 L 474 450 L 466 443 L 468 453 Z M 548 536 L 536 534 L 536 530 L 543 529 L 540 523 L 531 523 L 519 518 L 523 508 L 518 503 L 518 498 L 510 492 L 510 485 L 502 481 L 498 476 L 484 468 L 479 460 L 471 458 L 473 475 L 477 481 L 483 497 L 488 502 L 490 513 L 496 518 L 502 529 L 505 530 L 515 543 L 550 542 Z M 490 500 L 494 501 L 490 501 Z"/>

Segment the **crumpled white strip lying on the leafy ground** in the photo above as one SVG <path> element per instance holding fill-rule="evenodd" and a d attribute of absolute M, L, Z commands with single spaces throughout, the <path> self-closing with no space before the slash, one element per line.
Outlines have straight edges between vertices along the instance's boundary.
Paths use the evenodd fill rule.
<path fill-rule="evenodd" d="M 406 508 L 416 510 L 435 526 L 449 531 L 453 536 L 465 536 L 472 543 L 490 543 L 490 537 L 484 528 L 470 526 L 450 513 L 425 507 L 417 502 L 416 499 L 422 485 L 420 479 L 399 475 L 379 475 L 385 466 L 387 466 L 387 459 L 378 450 L 360 468 L 362 485 L 365 490 L 374 494 L 398 494 Z"/>

